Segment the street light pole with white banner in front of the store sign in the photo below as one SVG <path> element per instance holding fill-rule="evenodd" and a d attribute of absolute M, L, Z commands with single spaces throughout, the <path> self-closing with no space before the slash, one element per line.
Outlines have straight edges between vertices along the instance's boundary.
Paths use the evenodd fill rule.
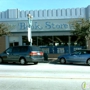
<path fill-rule="evenodd" d="M 28 41 L 30 42 L 30 46 L 32 46 L 31 26 L 32 26 L 33 16 L 31 14 L 27 14 L 27 17 L 28 17 Z"/>

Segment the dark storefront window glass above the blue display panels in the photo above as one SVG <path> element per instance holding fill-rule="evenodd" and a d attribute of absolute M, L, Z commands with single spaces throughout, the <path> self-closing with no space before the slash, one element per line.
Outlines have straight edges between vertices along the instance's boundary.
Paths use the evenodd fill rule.
<path fill-rule="evenodd" d="M 37 46 L 68 46 L 69 43 L 71 46 L 85 46 L 85 40 L 77 40 L 77 37 L 70 36 L 33 36 L 32 44 Z M 22 45 L 30 45 L 28 42 L 28 37 L 22 37 Z"/>

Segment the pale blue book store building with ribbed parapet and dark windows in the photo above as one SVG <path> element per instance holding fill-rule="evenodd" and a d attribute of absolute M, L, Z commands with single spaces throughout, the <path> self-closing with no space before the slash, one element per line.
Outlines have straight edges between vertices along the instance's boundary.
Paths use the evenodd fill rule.
<path fill-rule="evenodd" d="M 11 26 L 11 34 L 0 37 L 0 52 L 10 46 L 29 45 L 27 14 L 33 16 L 33 45 L 47 53 L 68 53 L 85 47 L 83 39 L 75 43 L 71 22 L 80 18 L 90 19 L 90 6 L 85 8 L 28 10 L 8 9 L 0 12 L 0 22 Z"/>

